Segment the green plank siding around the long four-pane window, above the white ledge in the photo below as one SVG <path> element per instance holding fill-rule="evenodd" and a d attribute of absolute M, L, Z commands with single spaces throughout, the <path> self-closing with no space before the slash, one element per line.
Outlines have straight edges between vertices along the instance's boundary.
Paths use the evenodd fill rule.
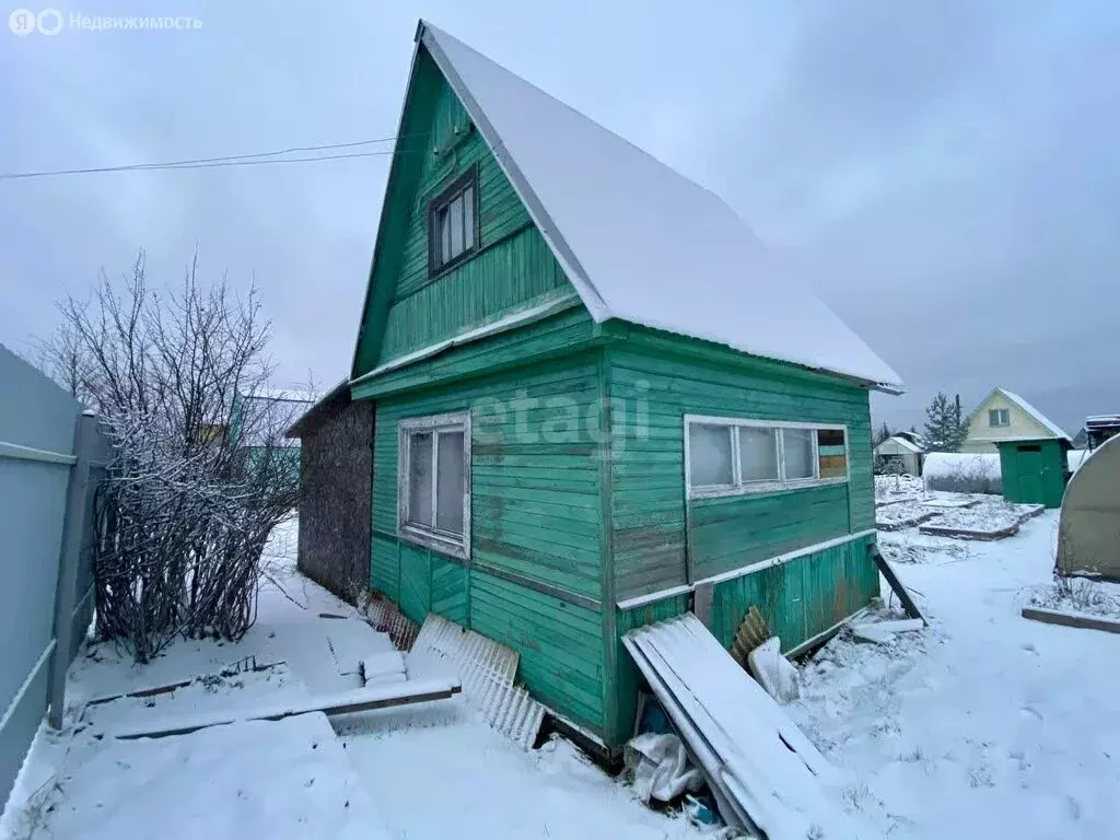
<path fill-rule="evenodd" d="M 609 346 L 607 364 L 617 598 L 690 582 L 687 560 L 698 580 L 874 526 L 866 389 L 637 329 Z M 685 414 L 843 423 L 849 480 L 689 503 Z"/>

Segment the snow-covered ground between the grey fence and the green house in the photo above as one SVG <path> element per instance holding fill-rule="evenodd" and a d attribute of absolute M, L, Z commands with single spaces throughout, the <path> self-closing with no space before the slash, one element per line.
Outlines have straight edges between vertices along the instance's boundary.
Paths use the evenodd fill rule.
<path fill-rule="evenodd" d="M 241 642 L 180 641 L 146 665 L 112 645 L 80 655 L 67 687 L 67 728 L 40 732 L 0 837 L 660 840 L 698 833 L 683 819 L 647 809 L 566 740 L 520 750 L 461 696 L 338 718 L 342 738 L 321 713 L 156 739 L 106 735 L 353 690 L 357 662 L 392 650 L 353 607 L 295 571 L 296 529 L 293 521 L 273 534 L 272 581 Z M 253 661 L 281 664 L 245 670 Z M 193 681 L 170 693 L 87 706 L 180 680 Z"/>

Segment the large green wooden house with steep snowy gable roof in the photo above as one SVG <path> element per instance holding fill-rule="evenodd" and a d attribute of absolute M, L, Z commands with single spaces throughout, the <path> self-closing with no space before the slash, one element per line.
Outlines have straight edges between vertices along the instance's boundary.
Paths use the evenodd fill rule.
<path fill-rule="evenodd" d="M 421 22 L 351 376 L 371 586 L 521 655 L 609 750 L 628 629 L 750 605 L 786 651 L 878 594 L 897 375 L 716 195 Z"/>

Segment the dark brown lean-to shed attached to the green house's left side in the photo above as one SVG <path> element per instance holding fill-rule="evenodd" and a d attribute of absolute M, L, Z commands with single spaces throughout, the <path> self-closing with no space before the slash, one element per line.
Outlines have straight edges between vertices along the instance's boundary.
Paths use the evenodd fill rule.
<path fill-rule="evenodd" d="M 288 430 L 300 440 L 299 570 L 353 601 L 370 582 L 373 403 L 343 380 Z"/>

